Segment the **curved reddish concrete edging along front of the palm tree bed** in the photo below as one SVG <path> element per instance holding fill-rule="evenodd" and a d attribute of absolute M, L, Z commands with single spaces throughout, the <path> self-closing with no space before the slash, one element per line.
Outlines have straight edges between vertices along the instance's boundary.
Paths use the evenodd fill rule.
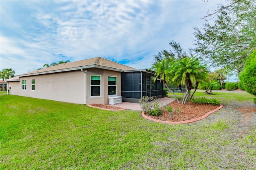
<path fill-rule="evenodd" d="M 192 122 L 196 122 L 196 121 L 200 121 L 206 117 L 208 117 L 210 114 L 220 110 L 223 107 L 223 105 L 220 105 L 220 107 L 206 113 L 205 115 L 201 116 L 201 117 L 197 117 L 195 119 L 190 119 L 190 120 L 186 120 L 186 121 L 178 121 L 178 122 L 171 122 L 171 121 L 161 121 L 161 120 L 157 120 L 157 119 L 153 119 L 152 117 L 148 117 L 144 114 L 144 112 L 142 111 L 141 115 L 142 117 L 144 117 L 145 119 L 149 119 L 151 121 L 155 121 L 155 122 L 159 122 L 159 123 L 168 123 L 168 124 L 184 124 L 184 123 L 192 123 Z"/>

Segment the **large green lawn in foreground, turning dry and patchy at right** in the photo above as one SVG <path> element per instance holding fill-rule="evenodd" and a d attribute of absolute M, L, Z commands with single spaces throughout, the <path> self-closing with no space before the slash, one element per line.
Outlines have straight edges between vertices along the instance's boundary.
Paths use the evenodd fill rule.
<path fill-rule="evenodd" d="M 218 114 L 169 125 L 140 111 L 15 95 L 0 96 L 0 109 L 0 169 L 256 168 L 255 128 L 234 138 L 237 121 Z"/>

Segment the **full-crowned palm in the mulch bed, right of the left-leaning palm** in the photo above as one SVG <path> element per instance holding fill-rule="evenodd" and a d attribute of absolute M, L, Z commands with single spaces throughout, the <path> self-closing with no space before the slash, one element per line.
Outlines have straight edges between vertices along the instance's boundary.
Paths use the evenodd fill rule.
<path fill-rule="evenodd" d="M 171 72 L 175 74 L 172 81 L 180 81 L 181 85 L 186 85 L 186 95 L 182 100 L 182 104 L 186 103 L 192 85 L 196 85 L 196 82 L 199 81 L 197 77 L 205 71 L 205 65 L 201 65 L 196 57 L 185 57 L 174 63 L 171 69 Z"/>

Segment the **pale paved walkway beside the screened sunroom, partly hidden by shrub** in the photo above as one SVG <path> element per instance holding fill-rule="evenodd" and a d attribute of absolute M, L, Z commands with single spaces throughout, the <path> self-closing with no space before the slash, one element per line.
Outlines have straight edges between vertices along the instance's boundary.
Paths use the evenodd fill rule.
<path fill-rule="evenodd" d="M 161 98 L 158 99 L 159 103 L 162 103 L 162 105 L 167 105 L 168 103 L 171 103 L 173 101 L 175 101 L 175 99 L 171 99 L 171 98 Z M 122 108 L 126 108 L 126 109 L 130 109 L 130 110 L 136 110 L 136 111 L 142 111 L 142 109 L 140 108 L 140 104 L 139 103 L 129 103 L 129 102 L 122 102 L 122 103 L 118 103 L 116 105 L 111 105 L 111 106 L 116 106 L 116 107 L 122 107 Z"/>

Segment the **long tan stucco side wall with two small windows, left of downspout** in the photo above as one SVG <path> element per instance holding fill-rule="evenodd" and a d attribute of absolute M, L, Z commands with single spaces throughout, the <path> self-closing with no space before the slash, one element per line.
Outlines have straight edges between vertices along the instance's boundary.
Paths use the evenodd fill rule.
<path fill-rule="evenodd" d="M 24 79 L 26 79 L 26 90 L 22 90 Z M 31 79 L 35 79 L 35 91 L 31 90 Z M 9 82 L 9 86 L 11 95 L 78 104 L 84 104 L 85 100 L 82 71 L 20 77 L 19 82 Z"/>

